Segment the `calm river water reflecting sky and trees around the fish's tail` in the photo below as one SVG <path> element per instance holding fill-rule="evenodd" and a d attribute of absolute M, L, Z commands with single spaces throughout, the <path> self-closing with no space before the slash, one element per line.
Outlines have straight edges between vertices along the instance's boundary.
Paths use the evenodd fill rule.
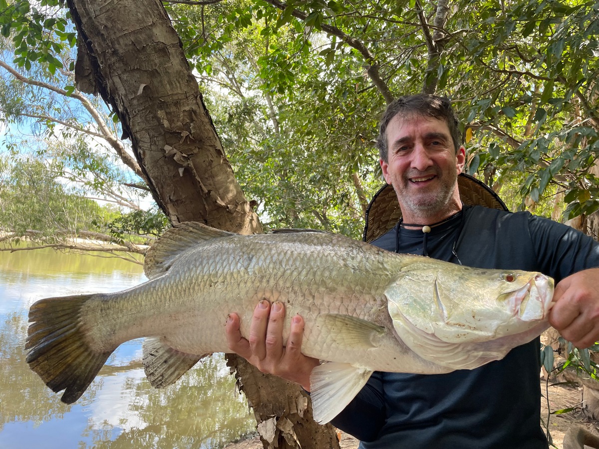
<path fill-rule="evenodd" d="M 133 263 L 52 250 L 0 252 L 0 448 L 216 449 L 255 430 L 220 355 L 156 390 L 141 366 L 141 341 L 127 342 L 72 405 L 28 368 L 26 314 L 33 302 L 122 290 L 145 280 L 141 271 Z"/>

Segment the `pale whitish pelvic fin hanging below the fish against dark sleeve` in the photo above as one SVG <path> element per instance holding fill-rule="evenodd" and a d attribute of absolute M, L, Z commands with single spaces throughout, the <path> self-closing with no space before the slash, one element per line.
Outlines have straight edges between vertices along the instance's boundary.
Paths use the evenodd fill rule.
<path fill-rule="evenodd" d="M 372 371 L 349 363 L 326 362 L 310 375 L 314 420 L 325 424 L 337 416 L 364 387 Z"/>

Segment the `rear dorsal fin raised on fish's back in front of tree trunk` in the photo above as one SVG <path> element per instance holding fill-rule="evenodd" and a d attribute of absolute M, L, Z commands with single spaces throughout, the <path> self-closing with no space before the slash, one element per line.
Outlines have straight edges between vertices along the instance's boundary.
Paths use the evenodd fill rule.
<path fill-rule="evenodd" d="M 225 230 L 214 229 L 198 222 L 184 222 L 167 229 L 147 250 L 144 273 L 148 279 L 158 277 L 168 271 L 171 263 L 183 251 L 199 242 L 214 238 L 237 235 Z"/>

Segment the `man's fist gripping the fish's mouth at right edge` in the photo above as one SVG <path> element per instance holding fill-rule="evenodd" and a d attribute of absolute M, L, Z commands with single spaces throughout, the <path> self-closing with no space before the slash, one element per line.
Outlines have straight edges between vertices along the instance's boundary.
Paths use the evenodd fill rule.
<path fill-rule="evenodd" d="M 599 341 L 599 268 L 562 279 L 553 293 L 549 323 L 577 348 Z"/>

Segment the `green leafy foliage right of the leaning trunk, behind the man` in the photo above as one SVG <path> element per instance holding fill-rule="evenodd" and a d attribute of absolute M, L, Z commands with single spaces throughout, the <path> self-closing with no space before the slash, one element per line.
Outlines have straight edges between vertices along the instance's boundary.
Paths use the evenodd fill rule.
<path fill-rule="evenodd" d="M 231 0 L 210 8 L 172 7 L 170 13 L 208 91 L 218 84 L 233 95 L 252 95 L 251 102 L 229 103 L 223 118 L 218 108 L 211 109 L 224 135 L 229 135 L 228 125 L 243 128 L 243 135 L 232 132 L 234 140 L 225 139 L 234 148 L 232 160 L 238 152 L 252 154 L 252 159 L 235 162 L 242 180 L 246 172 L 260 172 L 259 163 L 252 166 L 252 161 L 266 163 L 264 155 L 274 148 L 280 158 L 286 157 L 286 169 L 270 163 L 262 171 L 276 169 L 288 176 L 302 161 L 313 163 L 305 157 L 312 151 L 320 152 L 315 159 L 326 154 L 332 166 L 338 164 L 342 180 L 348 166 L 368 177 L 376 166 L 371 143 L 376 120 L 385 107 L 379 81 L 394 95 L 434 84 L 437 93 L 452 97 L 464 131 L 474 131 L 470 172 L 491 184 L 507 184 L 515 171 L 525 174 L 517 208 L 564 192 L 565 218 L 592 213 L 599 205 L 593 172 L 599 4 L 456 1 L 448 5 L 445 20 L 436 22 L 443 19 L 438 11 L 443 4 Z M 375 65 L 380 79 L 371 73 Z M 270 112 L 267 96 L 274 104 Z M 218 101 L 222 98 L 220 94 Z M 260 107 L 249 109 L 250 104 Z M 238 116 L 231 113 L 236 109 Z M 257 116 L 261 132 L 250 131 L 247 117 Z M 269 116 L 279 121 L 280 135 L 265 125 Z M 359 136 L 365 144 L 357 142 Z M 288 145 L 295 159 L 288 157 Z M 263 156 L 255 157 L 257 151 Z M 326 165 L 313 165 L 311 172 L 319 169 L 326 171 Z M 278 184 L 272 174 L 261 179 Z M 328 200 L 348 192 L 313 181 L 321 192 L 323 186 L 330 189 Z M 247 184 L 251 190 L 253 183 Z M 547 190 L 550 185 L 555 187 Z M 288 188 L 295 186 L 310 190 L 306 183 L 292 182 Z M 282 199 L 276 192 L 252 193 L 263 201 Z M 348 198 L 356 210 L 355 195 Z M 294 196 L 291 191 L 286 198 Z M 293 206 L 286 213 L 270 211 L 270 216 L 289 223 Z"/>

